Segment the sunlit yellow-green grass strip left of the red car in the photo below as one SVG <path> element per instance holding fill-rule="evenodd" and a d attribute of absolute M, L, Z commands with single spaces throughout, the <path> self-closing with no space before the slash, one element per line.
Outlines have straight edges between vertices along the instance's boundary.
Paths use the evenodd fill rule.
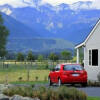
<path fill-rule="evenodd" d="M 45 81 L 48 78 L 49 70 L 30 70 L 29 81 Z M 7 77 L 8 82 L 19 81 L 19 77 L 22 77 L 22 81 L 27 81 L 27 70 L 18 70 L 13 72 L 0 72 L 0 82 L 4 82 Z"/>

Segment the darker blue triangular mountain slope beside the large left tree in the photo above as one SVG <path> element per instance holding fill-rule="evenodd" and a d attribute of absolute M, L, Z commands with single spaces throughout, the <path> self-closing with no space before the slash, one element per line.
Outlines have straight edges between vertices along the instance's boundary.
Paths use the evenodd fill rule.
<path fill-rule="evenodd" d="M 31 37 L 40 37 L 37 34 L 35 29 L 30 28 L 29 26 L 23 24 L 22 22 L 17 21 L 16 19 L 2 13 L 4 24 L 9 29 L 10 36 L 9 38 L 31 38 Z"/>

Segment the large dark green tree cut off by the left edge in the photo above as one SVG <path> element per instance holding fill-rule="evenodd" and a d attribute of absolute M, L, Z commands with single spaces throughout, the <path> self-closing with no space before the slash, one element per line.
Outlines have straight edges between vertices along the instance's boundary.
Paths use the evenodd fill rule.
<path fill-rule="evenodd" d="M 0 14 L 0 57 L 4 57 L 7 53 L 6 43 L 7 43 L 8 35 L 9 35 L 9 31 L 4 26 L 4 21 L 2 15 Z"/>

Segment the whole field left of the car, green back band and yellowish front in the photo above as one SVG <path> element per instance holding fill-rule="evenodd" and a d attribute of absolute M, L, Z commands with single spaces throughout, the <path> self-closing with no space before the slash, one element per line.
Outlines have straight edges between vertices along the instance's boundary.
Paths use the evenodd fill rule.
<path fill-rule="evenodd" d="M 8 63 L 8 62 L 7 62 Z M 0 63 L 0 83 L 4 83 L 6 80 L 8 82 L 27 81 L 28 72 L 29 72 L 29 81 L 46 81 L 48 79 L 49 69 L 46 68 L 46 65 L 43 64 L 25 64 L 24 62 L 9 62 L 9 66 L 3 66 Z"/>

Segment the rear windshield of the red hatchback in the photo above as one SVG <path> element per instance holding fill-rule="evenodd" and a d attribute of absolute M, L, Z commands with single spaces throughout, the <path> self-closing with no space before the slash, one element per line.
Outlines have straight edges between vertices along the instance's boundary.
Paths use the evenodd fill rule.
<path fill-rule="evenodd" d="M 71 70 L 83 70 L 84 68 L 80 65 L 64 65 L 63 68 L 65 71 L 71 71 Z"/>

